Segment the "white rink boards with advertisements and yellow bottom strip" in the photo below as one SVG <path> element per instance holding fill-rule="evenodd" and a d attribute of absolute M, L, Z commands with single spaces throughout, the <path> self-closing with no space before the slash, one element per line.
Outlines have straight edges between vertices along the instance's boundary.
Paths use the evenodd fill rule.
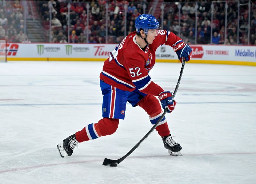
<path fill-rule="evenodd" d="M 118 44 L 8 43 L 7 61 L 104 61 L 116 46 Z M 191 63 L 256 66 L 256 46 L 190 46 L 193 49 Z M 3 47 L 1 44 L 0 48 Z M 156 50 L 156 62 L 179 60 L 172 47 L 162 45 Z"/>

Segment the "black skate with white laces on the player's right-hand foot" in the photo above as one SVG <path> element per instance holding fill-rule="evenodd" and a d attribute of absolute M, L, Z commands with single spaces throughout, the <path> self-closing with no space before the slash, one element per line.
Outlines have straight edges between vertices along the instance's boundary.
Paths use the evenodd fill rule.
<path fill-rule="evenodd" d="M 168 136 L 162 137 L 162 139 L 163 139 L 163 143 L 164 143 L 164 148 L 166 148 L 168 150 L 168 153 L 170 155 L 182 156 L 182 154 L 180 153 L 180 150 L 182 148 L 181 148 L 180 144 L 178 144 L 177 142 L 175 142 L 172 139 L 171 134 Z"/>

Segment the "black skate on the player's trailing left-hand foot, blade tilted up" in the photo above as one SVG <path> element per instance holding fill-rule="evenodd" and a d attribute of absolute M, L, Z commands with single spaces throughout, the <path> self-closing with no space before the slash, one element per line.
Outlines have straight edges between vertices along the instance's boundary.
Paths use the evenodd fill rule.
<path fill-rule="evenodd" d="M 57 149 L 60 153 L 60 156 L 64 158 L 65 156 L 71 156 L 74 148 L 77 146 L 78 141 L 75 137 L 76 134 L 70 135 L 66 139 L 64 139 L 60 144 L 57 145 Z"/>

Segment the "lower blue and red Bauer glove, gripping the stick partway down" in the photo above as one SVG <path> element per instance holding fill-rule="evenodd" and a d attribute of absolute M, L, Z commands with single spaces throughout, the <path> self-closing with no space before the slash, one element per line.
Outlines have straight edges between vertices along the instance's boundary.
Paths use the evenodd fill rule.
<path fill-rule="evenodd" d="M 172 98 L 172 92 L 164 91 L 159 95 L 159 99 L 161 101 L 161 105 L 163 109 L 167 108 L 167 112 L 172 112 L 175 108 L 176 101 Z"/>

